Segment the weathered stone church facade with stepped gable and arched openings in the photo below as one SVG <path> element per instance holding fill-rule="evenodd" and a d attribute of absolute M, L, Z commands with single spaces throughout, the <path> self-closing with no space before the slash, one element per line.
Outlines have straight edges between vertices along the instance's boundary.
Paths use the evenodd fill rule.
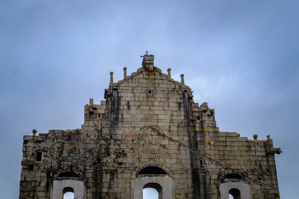
<path fill-rule="evenodd" d="M 19 199 L 279 199 L 274 154 L 266 140 L 219 132 L 214 109 L 154 67 L 113 81 L 104 101 L 90 99 L 82 129 L 24 136 Z M 266 137 L 266 136 L 265 136 Z"/>

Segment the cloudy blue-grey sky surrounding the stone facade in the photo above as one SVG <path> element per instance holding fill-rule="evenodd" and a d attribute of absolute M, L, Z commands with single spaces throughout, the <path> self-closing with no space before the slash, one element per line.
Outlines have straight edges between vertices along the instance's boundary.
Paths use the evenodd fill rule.
<path fill-rule="evenodd" d="M 18 198 L 23 135 L 81 128 L 84 105 L 155 67 L 215 109 L 220 131 L 271 135 L 297 198 L 299 1 L 0 1 L 1 198 Z"/>

